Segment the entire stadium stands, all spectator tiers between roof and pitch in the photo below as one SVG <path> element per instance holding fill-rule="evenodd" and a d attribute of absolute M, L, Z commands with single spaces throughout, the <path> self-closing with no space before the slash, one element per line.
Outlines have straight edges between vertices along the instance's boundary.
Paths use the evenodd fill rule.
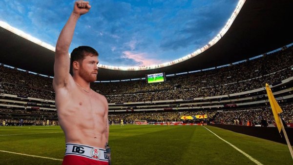
<path fill-rule="evenodd" d="M 292 123 L 292 68 L 293 46 L 226 67 L 169 76 L 166 82 L 95 82 L 91 87 L 106 96 L 109 121 L 113 123 L 124 119 L 127 123 L 235 124 L 238 119 L 238 124 L 252 120 L 258 125 L 261 119 L 274 121 L 264 88 L 269 83 L 277 100 L 284 103 L 282 117 Z M 13 125 L 23 118 L 24 124 L 42 125 L 47 119 L 58 124 L 54 97 L 51 78 L 0 65 L 0 122 Z M 199 114 L 207 114 L 208 118 L 180 119 Z"/>

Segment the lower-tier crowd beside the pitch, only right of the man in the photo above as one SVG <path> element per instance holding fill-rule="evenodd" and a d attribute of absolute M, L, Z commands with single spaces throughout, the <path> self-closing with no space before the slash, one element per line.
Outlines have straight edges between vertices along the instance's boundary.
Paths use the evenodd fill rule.
<path fill-rule="evenodd" d="M 281 104 L 283 112 L 280 114 L 285 123 L 293 123 L 293 103 Z M 206 119 L 183 120 L 182 116 L 207 115 Z M 248 121 L 252 125 L 261 125 L 262 121 L 268 124 L 274 123 L 274 117 L 270 106 L 260 106 L 251 108 L 241 108 L 233 110 L 209 110 L 209 111 L 175 111 L 175 112 L 130 112 L 130 113 L 111 113 L 109 114 L 110 124 L 119 124 L 121 119 L 125 123 L 132 124 L 137 120 L 147 122 L 177 122 L 194 123 L 205 121 L 214 124 L 237 124 L 247 125 Z"/>

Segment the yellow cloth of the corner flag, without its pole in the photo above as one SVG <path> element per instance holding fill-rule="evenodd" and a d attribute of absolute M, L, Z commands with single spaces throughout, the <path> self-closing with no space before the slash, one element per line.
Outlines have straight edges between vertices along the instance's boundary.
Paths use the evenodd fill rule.
<path fill-rule="evenodd" d="M 273 117 L 275 118 L 279 133 L 281 133 L 281 129 L 282 129 L 281 122 L 282 121 L 280 121 L 278 114 L 282 113 L 283 111 L 282 111 L 280 105 L 277 103 L 277 101 L 273 97 L 272 90 L 271 90 L 269 84 L 267 84 L 267 83 L 266 83 L 266 90 L 267 90 L 268 98 L 269 98 L 269 101 L 271 104 Z"/>

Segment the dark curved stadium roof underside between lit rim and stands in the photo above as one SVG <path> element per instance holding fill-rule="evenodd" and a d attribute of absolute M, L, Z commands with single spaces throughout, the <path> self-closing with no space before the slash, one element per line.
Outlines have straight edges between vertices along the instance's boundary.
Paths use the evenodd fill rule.
<path fill-rule="evenodd" d="M 151 70 L 99 68 L 98 81 L 143 78 L 146 74 L 188 72 L 249 59 L 293 42 L 293 0 L 246 0 L 227 33 L 203 53 Z M 54 51 L 0 27 L 0 63 L 54 76 Z"/>

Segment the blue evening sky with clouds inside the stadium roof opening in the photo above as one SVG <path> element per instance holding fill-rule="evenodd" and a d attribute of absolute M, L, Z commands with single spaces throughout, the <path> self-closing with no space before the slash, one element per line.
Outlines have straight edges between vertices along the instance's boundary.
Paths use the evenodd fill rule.
<path fill-rule="evenodd" d="M 89 0 L 69 53 L 87 45 L 100 64 L 147 66 L 202 48 L 229 20 L 238 0 Z M 0 21 L 55 47 L 74 0 L 0 0 Z M 5 6 L 5 7 L 3 7 Z"/>

